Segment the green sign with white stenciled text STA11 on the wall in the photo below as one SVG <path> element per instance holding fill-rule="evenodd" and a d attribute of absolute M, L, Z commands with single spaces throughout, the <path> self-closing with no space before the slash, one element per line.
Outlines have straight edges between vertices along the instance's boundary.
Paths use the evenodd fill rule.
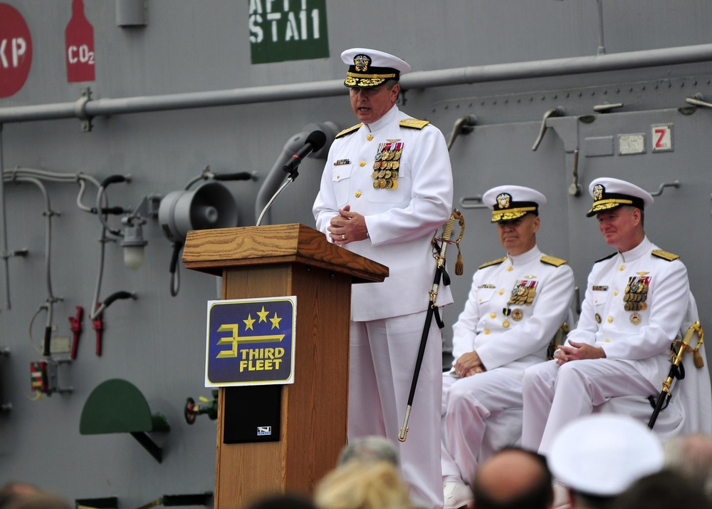
<path fill-rule="evenodd" d="M 249 0 L 252 63 L 328 58 L 326 0 Z"/>

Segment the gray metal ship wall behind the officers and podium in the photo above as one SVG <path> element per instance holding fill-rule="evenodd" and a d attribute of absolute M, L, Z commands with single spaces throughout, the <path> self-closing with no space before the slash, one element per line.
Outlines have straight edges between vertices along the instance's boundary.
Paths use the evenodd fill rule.
<path fill-rule="evenodd" d="M 67 83 L 62 48 L 70 1 L 7 3 L 28 22 L 34 56 L 25 86 L 0 100 L 0 118 L 11 108 L 75 101 L 85 86 L 93 99 L 279 85 L 299 89 L 299 83 L 342 78 L 339 54 L 352 46 L 397 53 L 414 71 L 588 57 L 600 46 L 598 2 L 592 0 L 333 1 L 327 6 L 330 58 L 251 65 L 248 2 L 147 0 L 147 26 L 122 29 L 116 24 L 115 2 L 85 0 L 95 29 L 96 79 Z M 608 55 L 712 42 L 706 1 L 602 0 L 602 8 Z M 651 240 L 683 257 L 705 317 L 703 326 L 708 327 L 712 185 L 707 133 L 712 110 L 685 110 L 693 113 L 685 115 L 678 108 L 689 107 L 685 98 L 696 92 L 712 97 L 709 63 L 598 73 L 573 73 L 564 62 L 560 67 L 560 76 L 413 88 L 404 93 L 402 109 L 431 120 L 446 136 L 458 118 L 476 115 L 473 132 L 459 135 L 451 149 L 456 203 L 507 182 L 545 192 L 550 203 L 542 214 L 540 246 L 570 260 L 580 287 L 592 262 L 609 249 L 596 225 L 584 217 L 590 199 L 568 192 L 573 148 L 580 149 L 584 189 L 600 175 L 630 178 L 651 191 L 679 180 L 679 187 L 668 187 L 656 198 L 646 215 L 646 230 Z M 88 133 L 80 130 L 76 118 L 6 122 L 1 161 L 6 169 L 83 172 L 98 180 L 130 173 L 129 184 L 109 188 L 111 204 L 126 208 L 150 193 L 181 190 L 206 165 L 216 173 L 256 172 L 257 180 L 227 184 L 239 207 L 239 225 L 253 225 L 256 193 L 288 139 L 310 123 L 330 121 L 339 128 L 355 123 L 342 93 L 99 116 Z M 604 102 L 624 106 L 595 112 L 594 106 Z M 562 116 L 548 121 L 542 143 L 533 151 L 543 114 L 555 107 Z M 595 115 L 595 120 L 578 120 L 586 115 Z M 617 140 L 619 134 L 647 133 L 650 143 L 650 126 L 657 123 L 674 124 L 672 153 L 651 153 L 649 145 L 640 155 L 617 155 L 615 147 L 610 155 L 587 153 L 593 147 L 588 138 Z M 306 160 L 300 178 L 273 207 L 271 222 L 313 224 L 310 207 L 321 163 Z M 52 209 L 61 212 L 53 217 L 51 245 L 53 290 L 63 299 L 54 308 L 53 334 L 69 336 L 68 317 L 75 306 L 88 309 L 92 299 L 100 225 L 75 206 L 76 185 L 47 186 Z M 26 480 L 70 500 L 116 495 L 121 507 L 137 507 L 165 494 L 212 490 L 214 421 L 200 416 L 188 426 L 183 406 L 188 396 L 210 396 L 203 387 L 204 309 L 206 300 L 216 297 L 215 278 L 182 269 L 179 294 L 171 297 L 171 247 L 154 219 L 144 227 L 149 244 L 141 269 L 125 269 L 120 246 L 108 245 L 103 296 L 124 289 L 137 299 L 108 308 L 100 357 L 94 354 L 94 334 L 85 318 L 78 359 L 60 373 L 61 384 L 73 386 L 73 393 L 33 401 L 28 364 L 41 359 L 33 346 L 38 347 L 45 315 L 40 313 L 33 324 L 33 344 L 28 329 L 46 299 L 44 208 L 33 185 L 7 182 L 5 187 L 9 249 L 26 247 L 29 253 L 9 259 L 12 307 L 3 303 L 0 310 L 0 347 L 10 350 L 0 357 L 0 403 L 13 406 L 0 413 L 0 481 Z M 464 203 L 473 205 L 473 200 Z M 502 254 L 487 212 L 463 210 L 466 274 L 453 277 L 457 304 L 446 312 L 449 324 L 464 304 L 476 266 Z M 151 410 L 167 417 L 171 431 L 152 434 L 164 448 L 160 465 L 130 436 L 80 436 L 80 413 L 88 395 L 112 378 L 131 381 Z"/>

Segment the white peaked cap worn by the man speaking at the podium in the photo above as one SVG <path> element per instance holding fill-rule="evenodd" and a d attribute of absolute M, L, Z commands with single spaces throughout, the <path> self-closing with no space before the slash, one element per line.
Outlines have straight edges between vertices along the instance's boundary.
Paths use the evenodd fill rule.
<path fill-rule="evenodd" d="M 398 80 L 401 74 L 410 71 L 407 62 L 375 49 L 347 49 L 341 53 L 341 59 L 349 66 L 344 80 L 347 87 L 376 87 L 386 80 Z"/>

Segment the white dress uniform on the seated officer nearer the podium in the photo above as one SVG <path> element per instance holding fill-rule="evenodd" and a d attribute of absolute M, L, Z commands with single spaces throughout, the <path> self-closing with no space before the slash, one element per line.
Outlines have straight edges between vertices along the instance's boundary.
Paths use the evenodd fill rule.
<path fill-rule="evenodd" d="M 453 356 L 476 351 L 486 371 L 463 379 L 454 369 L 444 375 L 444 476 L 471 483 L 478 463 L 494 452 L 482 450 L 485 433 L 505 437 L 501 446 L 519 441 L 520 411 L 498 419 L 498 429 L 492 423 L 504 411 L 521 408 L 524 369 L 545 361 L 551 339 L 567 318 L 574 277 L 565 263 L 535 246 L 484 264 L 474 274 L 464 311 L 453 326 Z"/>

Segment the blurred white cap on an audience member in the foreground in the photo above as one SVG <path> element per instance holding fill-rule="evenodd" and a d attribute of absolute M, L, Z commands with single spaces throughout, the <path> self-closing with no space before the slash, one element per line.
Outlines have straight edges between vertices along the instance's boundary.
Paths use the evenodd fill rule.
<path fill-rule="evenodd" d="M 595 413 L 564 426 L 547 460 L 554 478 L 572 490 L 611 497 L 659 471 L 663 446 L 632 417 Z"/>

